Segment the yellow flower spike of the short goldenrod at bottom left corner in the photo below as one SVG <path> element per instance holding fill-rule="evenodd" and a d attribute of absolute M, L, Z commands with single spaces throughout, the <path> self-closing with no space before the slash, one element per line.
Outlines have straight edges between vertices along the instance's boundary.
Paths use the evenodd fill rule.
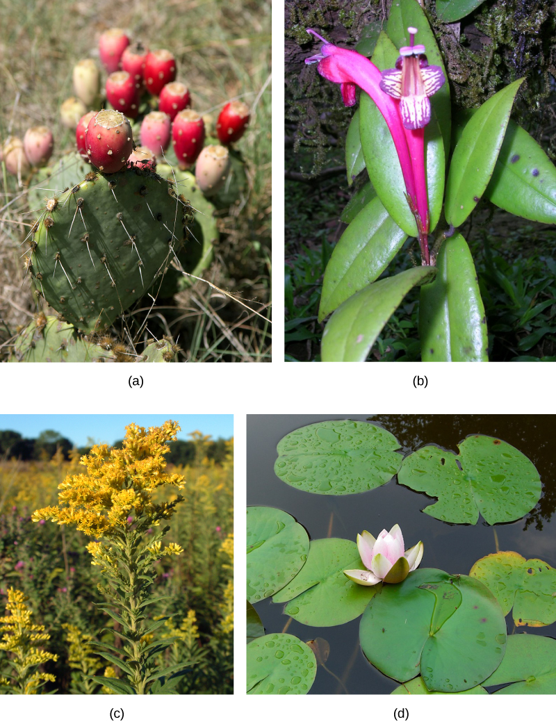
<path fill-rule="evenodd" d="M 25 602 L 28 597 L 19 589 L 8 589 L 6 616 L 0 617 L 0 650 L 14 654 L 14 667 L 24 683 L 25 695 L 34 695 L 41 680 L 56 682 L 53 674 L 35 672 L 26 676 L 27 670 L 50 660 L 57 661 L 58 655 L 38 649 L 35 644 L 50 639 L 44 625 L 31 623 L 32 611 Z M 9 612 L 9 614 L 7 614 Z"/>

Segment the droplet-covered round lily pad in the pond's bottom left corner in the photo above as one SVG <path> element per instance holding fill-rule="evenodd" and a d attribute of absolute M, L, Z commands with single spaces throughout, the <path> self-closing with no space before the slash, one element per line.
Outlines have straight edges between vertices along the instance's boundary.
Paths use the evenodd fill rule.
<path fill-rule="evenodd" d="M 306 695 L 316 676 L 316 659 L 290 634 L 269 634 L 247 645 L 248 695 Z"/>

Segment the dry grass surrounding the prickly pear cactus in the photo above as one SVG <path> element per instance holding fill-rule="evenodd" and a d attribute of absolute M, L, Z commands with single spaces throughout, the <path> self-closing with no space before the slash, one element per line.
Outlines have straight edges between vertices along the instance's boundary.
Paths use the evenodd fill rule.
<path fill-rule="evenodd" d="M 55 155 L 73 147 L 74 134 L 58 118 L 73 94 L 71 70 L 97 58 L 97 38 L 123 27 L 151 48 L 178 59 L 178 80 L 193 105 L 214 116 L 231 97 L 251 108 L 238 144 L 248 162 L 246 201 L 220 212 L 214 261 L 188 290 L 162 305 L 147 295 L 126 313 L 145 337 L 178 339 L 181 361 L 269 361 L 271 209 L 271 4 L 256 0 L 0 0 L 0 139 L 22 137 L 32 125 L 53 129 Z M 0 344 L 7 349 L 18 326 L 38 310 L 20 244 L 30 227 L 25 188 L 0 178 Z M 26 230 L 27 229 L 27 230 Z M 226 295 L 226 293 L 230 295 Z M 245 305 L 238 303 L 242 300 Z M 257 313 L 255 313 L 257 312 Z M 257 315 L 257 314 L 260 314 Z M 121 324 L 120 324 L 121 326 Z M 121 334 L 118 324 L 114 334 Z M 127 339 L 123 339 L 127 342 Z M 139 341 L 140 343 L 140 341 Z"/>

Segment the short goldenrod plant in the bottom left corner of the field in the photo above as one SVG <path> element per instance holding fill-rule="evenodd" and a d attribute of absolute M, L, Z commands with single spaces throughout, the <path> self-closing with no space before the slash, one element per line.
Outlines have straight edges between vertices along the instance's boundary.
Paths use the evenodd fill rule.
<path fill-rule="evenodd" d="M 50 639 L 44 625 L 31 622 L 32 611 L 22 591 L 10 587 L 6 616 L 0 619 L 0 650 L 8 653 L 12 674 L 0 677 L 0 687 L 14 695 L 36 695 L 46 682 L 56 682 L 53 674 L 39 671 L 40 665 L 56 661 L 58 656 L 38 648 Z"/>

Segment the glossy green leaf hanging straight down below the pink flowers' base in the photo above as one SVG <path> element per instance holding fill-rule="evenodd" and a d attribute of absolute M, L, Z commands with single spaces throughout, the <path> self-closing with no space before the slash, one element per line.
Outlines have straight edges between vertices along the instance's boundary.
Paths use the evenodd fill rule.
<path fill-rule="evenodd" d="M 487 319 L 473 258 L 464 237 L 444 241 L 438 274 L 421 289 L 423 361 L 488 361 Z"/>

